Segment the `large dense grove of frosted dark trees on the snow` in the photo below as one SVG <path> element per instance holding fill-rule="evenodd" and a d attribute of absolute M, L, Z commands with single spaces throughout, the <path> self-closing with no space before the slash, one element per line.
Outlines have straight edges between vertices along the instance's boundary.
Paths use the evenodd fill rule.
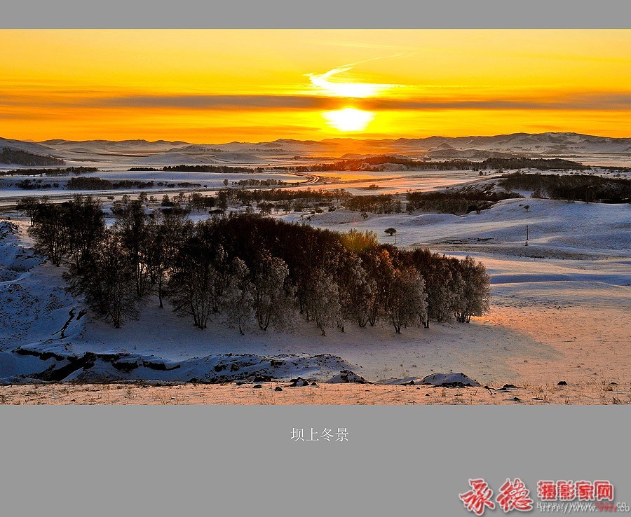
<path fill-rule="evenodd" d="M 37 251 L 67 266 L 69 289 L 114 326 L 157 297 L 205 329 L 219 315 L 241 333 L 283 329 L 300 316 L 325 335 L 386 322 L 396 333 L 430 319 L 469 322 L 489 310 L 482 263 L 379 244 L 255 214 L 191 221 L 177 206 L 116 202 L 107 227 L 89 196 L 29 207 Z"/>

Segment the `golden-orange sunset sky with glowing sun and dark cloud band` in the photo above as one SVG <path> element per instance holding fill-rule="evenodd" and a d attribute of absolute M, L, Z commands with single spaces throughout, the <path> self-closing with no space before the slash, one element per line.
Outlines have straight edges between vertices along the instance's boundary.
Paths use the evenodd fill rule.
<path fill-rule="evenodd" d="M 0 137 L 631 137 L 631 30 L 0 30 Z"/>

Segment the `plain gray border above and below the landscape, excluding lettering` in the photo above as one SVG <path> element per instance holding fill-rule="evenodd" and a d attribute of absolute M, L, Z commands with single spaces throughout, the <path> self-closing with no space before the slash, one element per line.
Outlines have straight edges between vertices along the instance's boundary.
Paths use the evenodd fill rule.
<path fill-rule="evenodd" d="M 626 0 L 23 0 L 0 10 L 2 28 L 628 29 L 630 20 Z M 458 494 L 477 476 L 495 491 L 521 477 L 531 495 L 539 479 L 609 479 L 631 504 L 630 422 L 631 406 L 0 406 L 0 509 L 452 517 L 472 515 Z M 346 427 L 349 441 L 293 443 L 293 427 Z"/>

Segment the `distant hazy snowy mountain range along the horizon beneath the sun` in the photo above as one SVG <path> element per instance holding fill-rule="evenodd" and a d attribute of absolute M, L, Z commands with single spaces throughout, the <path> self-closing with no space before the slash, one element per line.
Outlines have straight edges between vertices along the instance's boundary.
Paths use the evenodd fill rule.
<path fill-rule="evenodd" d="M 147 165 L 177 163 L 262 163 L 276 158 L 334 157 L 398 153 L 426 158 L 491 158 L 494 156 L 568 156 L 585 153 L 630 154 L 631 138 L 578 133 L 513 133 L 493 137 L 427 137 L 399 139 L 277 139 L 273 142 L 191 144 L 157 140 L 62 140 L 25 142 L 0 138 L 0 150 L 17 149 L 63 160 L 111 160 Z"/>

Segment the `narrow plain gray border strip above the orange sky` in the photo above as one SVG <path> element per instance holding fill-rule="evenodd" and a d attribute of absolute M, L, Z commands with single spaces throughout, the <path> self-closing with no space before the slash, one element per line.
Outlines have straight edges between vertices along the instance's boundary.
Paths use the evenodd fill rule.
<path fill-rule="evenodd" d="M 0 27 L 23 28 L 620 28 L 626 0 L 21 0 Z"/>

